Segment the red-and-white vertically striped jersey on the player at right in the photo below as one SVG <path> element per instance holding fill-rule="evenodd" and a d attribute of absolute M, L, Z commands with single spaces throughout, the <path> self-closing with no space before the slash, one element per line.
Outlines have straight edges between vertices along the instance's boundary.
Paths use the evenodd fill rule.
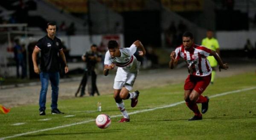
<path fill-rule="evenodd" d="M 204 46 L 193 44 L 189 50 L 183 45 L 175 49 L 176 59 L 180 57 L 187 63 L 189 74 L 195 76 L 207 76 L 212 73 L 212 68 L 207 60 L 211 50 Z"/>

